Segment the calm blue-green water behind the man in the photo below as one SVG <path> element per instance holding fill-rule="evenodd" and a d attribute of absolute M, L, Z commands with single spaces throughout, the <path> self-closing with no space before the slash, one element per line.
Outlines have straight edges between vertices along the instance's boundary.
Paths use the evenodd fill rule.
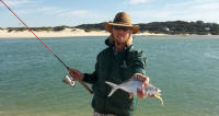
<path fill-rule="evenodd" d="M 165 105 L 138 100 L 136 116 L 219 116 L 219 36 L 138 36 Z M 105 37 L 43 39 L 68 66 L 92 72 Z M 36 39 L 0 39 L 0 116 L 91 116 L 92 95 Z"/>

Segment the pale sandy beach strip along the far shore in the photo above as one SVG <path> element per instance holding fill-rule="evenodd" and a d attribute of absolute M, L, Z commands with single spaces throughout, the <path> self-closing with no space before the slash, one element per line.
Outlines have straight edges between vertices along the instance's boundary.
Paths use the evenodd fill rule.
<path fill-rule="evenodd" d="M 34 31 L 34 33 L 38 37 L 74 37 L 74 36 L 108 36 L 110 33 L 106 31 L 90 31 L 85 32 L 80 28 L 65 28 L 62 31 Z M 164 35 L 164 34 L 153 34 L 153 33 L 138 33 L 136 35 Z M 0 30 L 0 38 L 26 38 L 26 37 L 35 37 L 28 31 L 12 31 Z"/>

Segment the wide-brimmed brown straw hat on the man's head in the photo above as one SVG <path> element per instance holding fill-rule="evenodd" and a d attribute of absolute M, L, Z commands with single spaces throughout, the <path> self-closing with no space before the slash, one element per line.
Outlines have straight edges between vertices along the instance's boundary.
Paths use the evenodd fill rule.
<path fill-rule="evenodd" d="M 138 25 L 132 25 L 130 21 L 129 14 L 126 12 L 118 12 L 113 20 L 113 23 L 111 22 L 105 22 L 105 30 L 112 33 L 113 26 L 129 26 L 132 30 L 132 34 L 138 33 L 139 26 Z"/>

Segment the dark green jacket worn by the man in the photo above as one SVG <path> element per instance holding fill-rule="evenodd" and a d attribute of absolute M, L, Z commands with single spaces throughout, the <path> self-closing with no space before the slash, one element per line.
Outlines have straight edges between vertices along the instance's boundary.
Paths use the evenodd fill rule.
<path fill-rule="evenodd" d="M 94 91 L 92 107 L 101 114 L 130 116 L 134 100 L 122 90 L 117 90 L 108 97 L 112 88 L 105 84 L 105 81 L 120 84 L 130 79 L 134 73 L 146 74 L 146 56 L 142 51 L 136 50 L 132 45 L 117 54 L 114 53 L 114 45 L 110 44 L 108 39 L 106 45 L 108 47 L 97 55 L 95 71 L 84 73 L 83 81 L 91 83 Z"/>

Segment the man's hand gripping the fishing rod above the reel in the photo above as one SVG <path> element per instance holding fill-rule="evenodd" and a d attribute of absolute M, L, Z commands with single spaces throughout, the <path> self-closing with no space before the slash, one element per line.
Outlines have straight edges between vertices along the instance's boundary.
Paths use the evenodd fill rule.
<path fill-rule="evenodd" d="M 73 78 L 74 81 L 82 81 L 83 80 L 83 73 L 81 73 L 80 71 L 76 70 L 76 69 L 68 69 L 69 74 L 71 78 Z"/>

